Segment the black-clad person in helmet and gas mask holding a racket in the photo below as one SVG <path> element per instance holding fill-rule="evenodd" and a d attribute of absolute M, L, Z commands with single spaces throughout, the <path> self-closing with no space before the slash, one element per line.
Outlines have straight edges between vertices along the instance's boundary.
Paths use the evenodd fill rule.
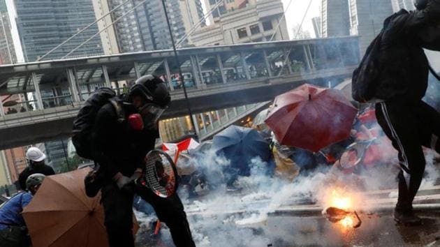
<path fill-rule="evenodd" d="M 140 77 L 128 96 L 120 96 L 118 106 L 101 107 L 94 124 L 95 161 L 103 174 L 101 195 L 105 227 L 110 246 L 134 246 L 133 196 L 140 195 L 152 204 L 161 222 L 170 228 L 176 246 L 195 246 L 184 207 L 177 194 L 161 198 L 151 190 L 133 183 L 145 170 L 145 156 L 159 138 L 158 120 L 170 103 L 170 95 L 161 79 Z M 129 116 L 140 114 L 142 126 L 133 126 Z M 139 116 L 139 115 L 137 115 Z"/>

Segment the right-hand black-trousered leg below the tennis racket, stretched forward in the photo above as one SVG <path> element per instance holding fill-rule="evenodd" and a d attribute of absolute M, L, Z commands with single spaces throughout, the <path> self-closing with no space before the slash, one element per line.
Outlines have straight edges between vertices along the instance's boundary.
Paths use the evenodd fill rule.
<path fill-rule="evenodd" d="M 156 215 L 161 222 L 166 223 L 170 228 L 171 237 L 177 247 L 196 246 L 191 236 L 188 220 L 184 211 L 184 206 L 177 194 L 168 198 L 161 198 L 151 192 L 148 188 L 138 186 L 136 193 L 143 200 L 149 202 L 156 211 Z"/>

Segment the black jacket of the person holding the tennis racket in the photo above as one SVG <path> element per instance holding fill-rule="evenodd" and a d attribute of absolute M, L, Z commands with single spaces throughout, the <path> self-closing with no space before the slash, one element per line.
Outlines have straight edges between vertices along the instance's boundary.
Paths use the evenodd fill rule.
<path fill-rule="evenodd" d="M 119 122 L 115 107 L 107 103 L 98 111 L 94 123 L 93 155 L 107 179 L 117 172 L 130 177 L 136 168 L 145 168 L 145 155 L 154 149 L 159 138 L 159 130 L 132 130 L 126 119 L 137 111 L 125 103 L 122 109 L 125 120 Z"/>

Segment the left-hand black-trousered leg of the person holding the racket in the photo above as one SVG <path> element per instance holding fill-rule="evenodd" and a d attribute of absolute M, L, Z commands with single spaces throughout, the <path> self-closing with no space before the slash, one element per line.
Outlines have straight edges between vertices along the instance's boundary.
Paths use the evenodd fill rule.
<path fill-rule="evenodd" d="M 105 213 L 104 224 L 110 246 L 134 246 L 133 193 L 119 189 L 114 182 L 103 186 L 101 193 Z"/>

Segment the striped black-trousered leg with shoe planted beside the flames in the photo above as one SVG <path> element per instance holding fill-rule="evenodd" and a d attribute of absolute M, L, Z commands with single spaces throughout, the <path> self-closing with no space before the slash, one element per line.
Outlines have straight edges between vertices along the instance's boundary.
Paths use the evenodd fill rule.
<path fill-rule="evenodd" d="M 376 105 L 376 117 L 383 131 L 399 151 L 399 197 L 395 211 L 404 216 L 412 216 L 412 202 L 420 187 L 425 171 L 425 156 L 418 131 L 418 119 L 413 109 L 399 103 Z M 396 217 L 399 220 L 402 217 Z M 420 223 L 417 218 L 406 217 L 404 223 Z"/>

